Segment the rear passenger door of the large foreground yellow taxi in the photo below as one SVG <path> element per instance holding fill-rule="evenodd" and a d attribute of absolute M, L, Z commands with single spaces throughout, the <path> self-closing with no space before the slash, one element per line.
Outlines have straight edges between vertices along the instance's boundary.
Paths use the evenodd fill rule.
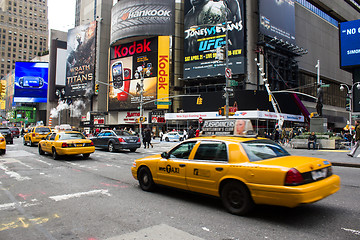
<path fill-rule="evenodd" d="M 186 164 L 190 191 L 218 196 L 219 180 L 228 172 L 227 145 L 221 141 L 201 141 L 193 159 Z"/>

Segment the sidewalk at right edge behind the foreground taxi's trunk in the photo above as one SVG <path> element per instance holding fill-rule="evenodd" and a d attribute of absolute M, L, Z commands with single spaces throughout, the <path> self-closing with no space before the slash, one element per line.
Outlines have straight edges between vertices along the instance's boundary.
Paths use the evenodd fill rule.
<path fill-rule="evenodd" d="M 360 168 L 360 151 L 357 151 L 354 157 L 349 157 L 347 153 L 350 150 L 307 150 L 293 149 L 291 147 L 285 147 L 285 149 L 292 155 L 324 158 L 329 160 L 334 166 Z"/>

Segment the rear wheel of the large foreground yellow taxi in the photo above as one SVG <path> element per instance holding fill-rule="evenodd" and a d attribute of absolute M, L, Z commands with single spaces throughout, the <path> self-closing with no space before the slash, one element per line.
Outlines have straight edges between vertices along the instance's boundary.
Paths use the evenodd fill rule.
<path fill-rule="evenodd" d="M 227 183 L 221 190 L 221 200 L 224 207 L 235 215 L 245 215 L 254 207 L 249 190 L 239 182 Z"/>

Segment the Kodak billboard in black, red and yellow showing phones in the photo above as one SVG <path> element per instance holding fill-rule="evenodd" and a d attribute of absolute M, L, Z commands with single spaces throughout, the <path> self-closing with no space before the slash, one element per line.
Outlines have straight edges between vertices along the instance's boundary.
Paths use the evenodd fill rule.
<path fill-rule="evenodd" d="M 154 109 L 156 99 L 169 95 L 169 39 L 169 36 L 159 36 L 110 48 L 109 111 L 138 108 L 141 76 L 136 78 L 136 72 L 139 67 L 144 76 L 143 100 L 153 101 L 145 104 L 144 109 Z"/>

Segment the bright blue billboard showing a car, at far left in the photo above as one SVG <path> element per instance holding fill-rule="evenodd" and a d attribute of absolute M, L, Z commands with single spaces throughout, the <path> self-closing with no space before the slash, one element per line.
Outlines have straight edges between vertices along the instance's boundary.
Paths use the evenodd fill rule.
<path fill-rule="evenodd" d="M 46 62 L 16 62 L 14 102 L 47 102 Z"/>

